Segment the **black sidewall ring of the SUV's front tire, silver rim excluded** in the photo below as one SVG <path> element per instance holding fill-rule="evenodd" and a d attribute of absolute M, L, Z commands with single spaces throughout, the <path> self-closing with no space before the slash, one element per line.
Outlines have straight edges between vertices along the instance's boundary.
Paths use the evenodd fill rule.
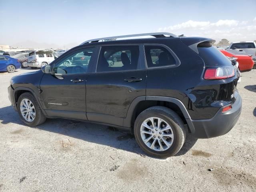
<path fill-rule="evenodd" d="M 35 107 L 36 117 L 35 117 L 35 119 L 34 119 L 32 122 L 26 121 L 26 120 L 24 119 L 24 117 L 22 116 L 21 111 L 20 111 L 20 102 L 21 102 L 23 99 L 25 99 L 25 98 L 28 99 L 28 100 L 30 100 L 30 101 L 32 102 L 32 104 L 34 105 L 34 107 Z M 18 108 L 18 113 L 19 113 L 19 115 L 20 115 L 20 118 L 21 118 L 21 120 L 22 120 L 25 124 L 27 124 L 28 126 L 35 126 L 35 125 L 36 125 L 36 123 L 38 122 L 38 118 L 39 118 L 38 114 L 39 114 L 40 108 L 39 108 L 39 106 L 38 106 L 38 104 L 37 104 L 37 102 L 36 102 L 36 99 L 34 98 L 34 96 L 33 96 L 32 94 L 30 94 L 30 93 L 24 93 L 24 94 L 22 94 L 22 95 L 18 98 L 17 108 Z"/>

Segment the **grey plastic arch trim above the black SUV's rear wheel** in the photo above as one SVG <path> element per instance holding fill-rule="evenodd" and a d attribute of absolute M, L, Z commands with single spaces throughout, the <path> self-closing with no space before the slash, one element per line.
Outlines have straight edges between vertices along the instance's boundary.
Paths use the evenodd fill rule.
<path fill-rule="evenodd" d="M 188 130 L 192 133 L 195 131 L 191 117 L 184 104 L 176 98 L 164 96 L 141 96 L 135 98 L 128 109 L 126 118 L 124 119 L 124 127 L 130 127 L 133 134 L 133 125 L 136 117 L 142 111 L 152 106 L 165 106 L 174 110 L 174 112 L 182 118 L 184 123 L 188 125 Z"/>

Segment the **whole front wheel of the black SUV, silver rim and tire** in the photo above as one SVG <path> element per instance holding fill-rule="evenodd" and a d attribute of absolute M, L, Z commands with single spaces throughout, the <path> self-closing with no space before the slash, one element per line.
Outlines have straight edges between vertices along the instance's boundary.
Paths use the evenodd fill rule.
<path fill-rule="evenodd" d="M 46 120 L 38 102 L 29 92 L 19 97 L 18 112 L 21 120 L 28 126 L 37 126 Z"/>

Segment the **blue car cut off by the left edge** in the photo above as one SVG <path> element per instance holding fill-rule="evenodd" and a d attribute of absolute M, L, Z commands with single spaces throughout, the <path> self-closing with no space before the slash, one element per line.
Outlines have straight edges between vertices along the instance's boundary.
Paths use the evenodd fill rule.
<path fill-rule="evenodd" d="M 20 66 L 18 59 L 0 55 L 0 72 L 7 71 L 8 73 L 13 73 L 16 69 L 19 69 Z"/>

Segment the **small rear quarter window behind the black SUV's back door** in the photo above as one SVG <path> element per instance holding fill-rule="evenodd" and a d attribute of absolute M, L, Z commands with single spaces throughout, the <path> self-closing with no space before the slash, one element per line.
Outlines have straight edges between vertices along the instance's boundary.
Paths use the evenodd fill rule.
<path fill-rule="evenodd" d="M 161 46 L 144 46 L 148 67 L 175 65 L 176 60 L 172 54 Z"/>

